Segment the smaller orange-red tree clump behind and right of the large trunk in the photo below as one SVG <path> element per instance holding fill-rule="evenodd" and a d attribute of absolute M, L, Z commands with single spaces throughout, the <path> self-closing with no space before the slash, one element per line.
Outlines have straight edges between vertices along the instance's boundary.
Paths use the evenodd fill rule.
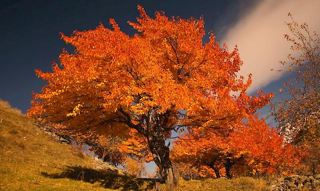
<path fill-rule="evenodd" d="M 230 130 L 227 137 L 214 133 L 202 136 L 196 130 L 185 134 L 173 146 L 172 160 L 191 163 L 205 178 L 220 178 L 222 174 L 232 178 L 233 174 L 245 172 L 289 174 L 304 153 L 284 145 L 278 134 L 263 119 L 250 116 L 246 123 Z"/>

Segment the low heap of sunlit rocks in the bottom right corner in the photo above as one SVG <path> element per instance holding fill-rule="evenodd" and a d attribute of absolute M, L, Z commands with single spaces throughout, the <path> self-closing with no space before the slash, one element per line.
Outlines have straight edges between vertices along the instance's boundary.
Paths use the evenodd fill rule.
<path fill-rule="evenodd" d="M 312 190 L 320 191 L 320 174 L 316 175 L 291 175 L 284 178 L 271 181 L 268 188 L 269 191 L 298 191 L 298 190 Z"/>

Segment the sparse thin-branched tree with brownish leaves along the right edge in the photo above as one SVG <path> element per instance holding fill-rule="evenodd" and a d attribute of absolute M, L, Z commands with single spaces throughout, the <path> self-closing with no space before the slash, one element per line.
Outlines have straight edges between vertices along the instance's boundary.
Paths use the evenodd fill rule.
<path fill-rule="evenodd" d="M 290 62 L 281 63 L 296 78 L 285 83 L 284 92 L 289 98 L 274 104 L 273 115 L 287 142 L 307 148 L 309 157 L 305 160 L 315 174 L 320 165 L 320 39 L 306 23 L 298 24 L 288 15 L 290 34 L 285 38 L 292 43 L 293 53 L 288 55 Z"/>

